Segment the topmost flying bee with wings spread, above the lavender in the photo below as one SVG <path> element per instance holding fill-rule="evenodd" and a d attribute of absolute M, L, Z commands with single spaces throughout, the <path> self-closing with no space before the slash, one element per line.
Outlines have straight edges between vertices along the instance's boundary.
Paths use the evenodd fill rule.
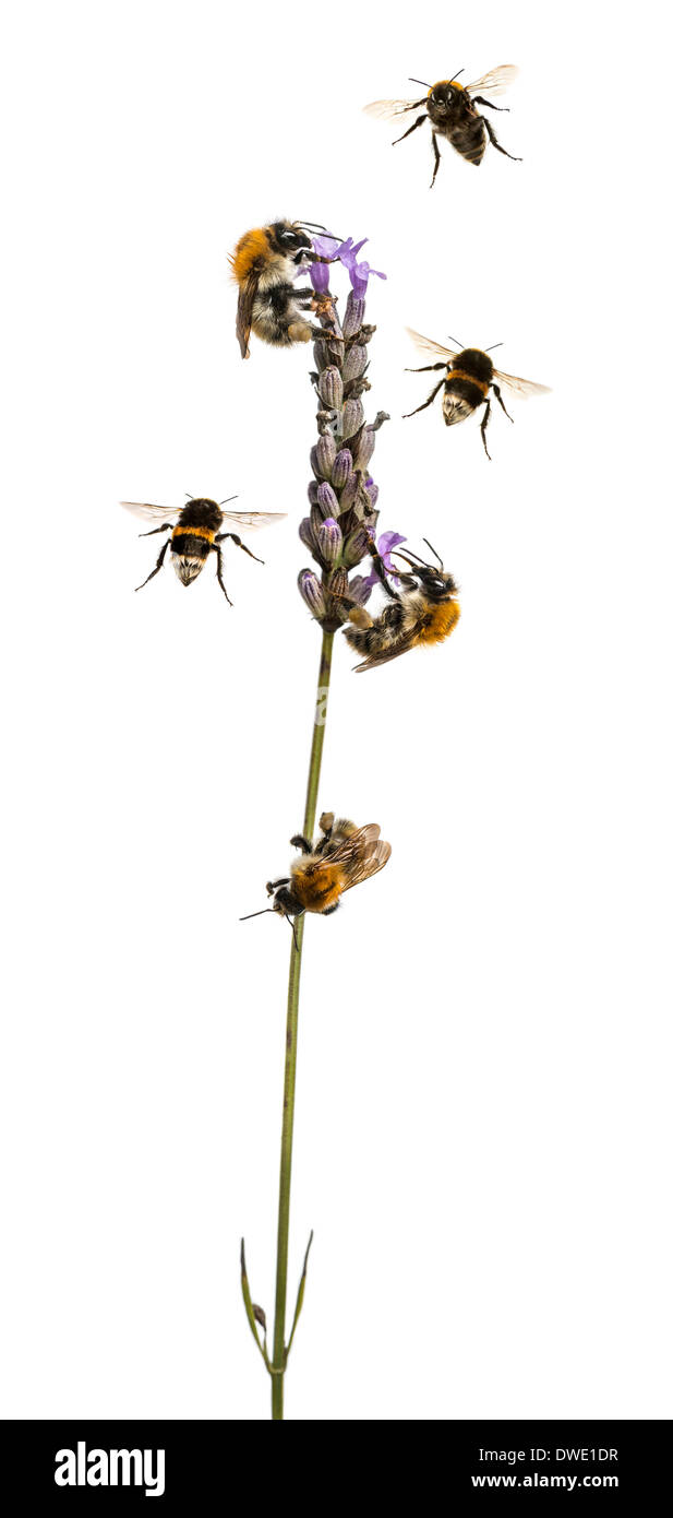
<path fill-rule="evenodd" d="M 458 74 L 464 71 L 464 68 L 459 68 Z M 405 137 L 415 132 L 417 126 L 423 126 L 423 121 L 430 121 L 432 147 L 435 152 L 435 172 L 430 190 L 441 162 L 440 137 L 444 137 L 461 158 L 467 158 L 468 164 L 480 164 L 487 150 L 487 138 L 493 147 L 497 147 L 499 153 L 505 153 L 505 158 L 512 158 L 515 164 L 521 162 L 520 158 L 514 158 L 514 153 L 508 153 L 500 146 L 488 117 L 479 115 L 479 111 L 474 109 L 476 105 L 485 105 L 490 111 L 508 111 L 508 106 L 493 105 L 491 100 L 485 100 L 479 91 L 488 90 L 490 94 L 502 94 L 518 74 L 518 68 L 514 64 L 500 64 L 499 68 L 491 68 L 488 74 L 476 79 L 473 85 L 459 85 L 458 74 L 453 79 L 440 79 L 437 85 L 427 85 L 424 79 L 412 79 L 412 85 L 423 85 L 427 90 L 427 96 L 420 100 L 373 100 L 371 105 L 365 105 L 365 111 L 370 115 L 379 115 L 383 120 L 394 120 L 408 111 L 418 111 L 423 106 L 423 115 L 417 115 L 412 126 L 402 137 L 396 137 L 396 143 L 403 143 Z"/>

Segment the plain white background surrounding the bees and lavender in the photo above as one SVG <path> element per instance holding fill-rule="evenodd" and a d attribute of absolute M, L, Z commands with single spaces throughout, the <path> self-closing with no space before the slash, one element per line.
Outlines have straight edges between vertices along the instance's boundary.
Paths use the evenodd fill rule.
<path fill-rule="evenodd" d="M 382 528 L 446 647 L 335 656 L 320 806 L 388 868 L 306 932 L 293 1419 L 670 1416 L 668 178 L 659 6 L 14 5 L 3 44 L 6 1416 L 268 1416 L 282 921 L 318 657 L 306 349 L 243 364 L 226 255 L 370 237 Z M 476 172 L 361 106 L 521 74 Z M 658 94 L 658 74 L 661 94 Z M 341 287 L 341 301 L 346 290 Z M 553 395 L 450 433 L 405 325 Z M 117 499 L 274 509 L 142 595 Z"/>

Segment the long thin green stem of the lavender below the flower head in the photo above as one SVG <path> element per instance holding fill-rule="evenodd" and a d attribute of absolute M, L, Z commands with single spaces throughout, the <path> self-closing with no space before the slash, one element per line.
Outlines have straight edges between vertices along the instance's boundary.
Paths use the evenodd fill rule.
<path fill-rule="evenodd" d="M 327 721 L 329 677 L 332 671 L 333 633 L 323 631 L 323 647 L 320 650 L 318 689 L 315 697 L 314 735 L 311 742 L 311 762 L 306 786 L 306 811 L 303 814 L 303 833 L 314 836 L 315 811 L 318 805 L 320 767 L 323 762 L 324 726 Z M 285 1307 L 288 1298 L 288 1242 L 290 1242 L 290 1183 L 293 1173 L 293 1131 L 294 1131 L 294 1087 L 297 1078 L 297 1028 L 299 1028 L 299 981 L 302 975 L 305 918 L 294 924 L 293 946 L 290 949 L 290 982 L 288 982 L 288 1022 L 285 1037 L 285 1085 L 283 1085 L 283 1125 L 280 1135 L 280 1184 L 277 1199 L 277 1254 L 276 1254 L 276 1318 L 273 1330 L 273 1368 L 271 1368 L 271 1418 L 283 1416 L 283 1378 L 285 1378 Z"/>

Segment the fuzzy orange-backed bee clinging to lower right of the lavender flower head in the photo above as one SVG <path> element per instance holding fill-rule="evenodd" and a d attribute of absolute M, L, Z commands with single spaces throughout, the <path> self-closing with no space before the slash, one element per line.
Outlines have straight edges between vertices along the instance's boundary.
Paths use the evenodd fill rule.
<path fill-rule="evenodd" d="M 424 539 L 427 543 L 427 539 Z M 376 565 L 383 591 L 391 600 L 380 616 L 371 618 L 365 607 L 352 606 L 349 610 L 350 627 L 344 627 L 346 642 L 359 654 L 367 657 L 355 665 L 358 672 L 376 669 L 377 665 L 399 659 L 409 648 L 443 644 L 453 631 L 461 607 L 455 600 L 458 586 L 453 575 L 447 574 L 440 554 L 432 543 L 427 548 L 435 556 L 438 568 L 427 565 L 418 554 L 400 553 L 411 566 L 409 574 L 402 574 L 402 595 L 393 589 L 382 568 Z"/>

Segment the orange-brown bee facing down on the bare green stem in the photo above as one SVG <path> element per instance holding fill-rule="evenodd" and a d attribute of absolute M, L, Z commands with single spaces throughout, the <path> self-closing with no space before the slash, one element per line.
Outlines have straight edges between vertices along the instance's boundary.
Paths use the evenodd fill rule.
<path fill-rule="evenodd" d="M 262 917 L 264 911 L 280 912 L 294 932 L 294 918 L 305 912 L 330 917 L 344 891 L 368 880 L 388 864 L 391 846 L 380 838 L 377 823 L 356 827 L 346 817 L 335 818 L 333 812 L 323 812 L 318 826 L 321 836 L 314 844 L 302 833 L 290 839 L 291 847 L 300 850 L 290 876 L 268 880 L 267 896 L 273 896 L 273 906 L 250 912 L 249 917 Z M 241 921 L 249 917 L 241 917 Z"/>

